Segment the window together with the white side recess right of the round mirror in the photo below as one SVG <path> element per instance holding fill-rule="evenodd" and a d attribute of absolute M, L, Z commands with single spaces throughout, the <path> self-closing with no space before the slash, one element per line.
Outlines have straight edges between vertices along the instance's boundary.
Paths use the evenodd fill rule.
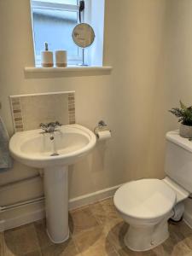
<path fill-rule="evenodd" d="M 105 0 L 84 0 L 83 22 L 93 27 L 94 43 L 84 49 L 89 66 L 102 66 Z M 83 62 L 83 50 L 73 42 L 72 32 L 79 23 L 79 0 L 31 0 L 33 43 L 36 67 L 41 65 L 41 51 L 48 42 L 49 49 L 67 50 L 68 65 Z"/>

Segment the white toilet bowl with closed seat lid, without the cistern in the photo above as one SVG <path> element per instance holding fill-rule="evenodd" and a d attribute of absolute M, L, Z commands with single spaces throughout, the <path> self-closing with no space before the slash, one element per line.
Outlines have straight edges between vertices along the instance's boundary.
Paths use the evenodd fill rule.
<path fill-rule="evenodd" d="M 167 220 L 173 207 L 189 193 L 170 178 L 141 179 L 125 183 L 115 193 L 114 206 L 129 224 L 125 245 L 133 251 L 147 251 L 169 237 Z"/>

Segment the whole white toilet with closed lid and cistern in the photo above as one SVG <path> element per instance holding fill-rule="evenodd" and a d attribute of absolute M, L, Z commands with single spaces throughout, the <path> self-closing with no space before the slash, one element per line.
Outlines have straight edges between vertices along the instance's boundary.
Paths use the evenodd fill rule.
<path fill-rule="evenodd" d="M 183 201 L 192 193 L 192 142 L 178 131 L 166 134 L 166 177 L 148 178 L 122 185 L 113 201 L 130 227 L 125 245 L 133 251 L 147 251 L 169 236 L 168 219 L 183 216 Z"/>

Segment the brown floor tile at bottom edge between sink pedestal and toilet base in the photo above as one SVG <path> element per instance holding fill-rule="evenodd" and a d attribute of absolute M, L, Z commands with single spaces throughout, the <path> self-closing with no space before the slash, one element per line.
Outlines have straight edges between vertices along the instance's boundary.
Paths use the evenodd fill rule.
<path fill-rule="evenodd" d="M 100 226 L 73 236 L 75 244 L 83 256 L 117 256 Z"/>

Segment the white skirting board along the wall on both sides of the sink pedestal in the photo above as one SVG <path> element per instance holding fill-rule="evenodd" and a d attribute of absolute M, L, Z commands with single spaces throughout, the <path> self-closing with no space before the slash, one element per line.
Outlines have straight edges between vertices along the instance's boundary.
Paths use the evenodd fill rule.
<path fill-rule="evenodd" d="M 114 195 L 114 192 L 121 185 L 117 185 L 108 189 L 102 189 L 94 193 L 82 195 L 69 200 L 69 209 L 73 210 L 78 207 L 89 205 L 96 201 L 101 201 Z M 13 229 L 23 224 L 29 224 L 45 217 L 44 202 L 36 202 L 27 204 L 22 207 L 9 209 L 0 212 L 0 232 Z"/>

